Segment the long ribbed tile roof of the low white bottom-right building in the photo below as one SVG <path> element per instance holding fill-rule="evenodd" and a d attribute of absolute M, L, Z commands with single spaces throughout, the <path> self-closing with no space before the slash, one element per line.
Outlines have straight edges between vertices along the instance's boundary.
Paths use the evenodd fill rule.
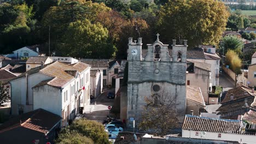
<path fill-rule="evenodd" d="M 245 123 L 238 120 L 185 115 L 182 129 L 238 134 L 241 133 L 241 127 L 244 125 Z"/>

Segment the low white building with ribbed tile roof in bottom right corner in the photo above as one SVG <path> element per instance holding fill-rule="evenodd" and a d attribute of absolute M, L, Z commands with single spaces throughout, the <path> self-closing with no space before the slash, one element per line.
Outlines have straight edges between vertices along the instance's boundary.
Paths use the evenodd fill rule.
<path fill-rule="evenodd" d="M 254 144 L 255 133 L 246 132 L 245 127 L 246 123 L 239 120 L 185 115 L 182 137 Z"/>

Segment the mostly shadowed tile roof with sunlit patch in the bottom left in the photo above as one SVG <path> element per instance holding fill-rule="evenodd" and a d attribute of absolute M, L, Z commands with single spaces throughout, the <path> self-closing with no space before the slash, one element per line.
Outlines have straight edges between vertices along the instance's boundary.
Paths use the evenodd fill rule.
<path fill-rule="evenodd" d="M 57 116 L 54 113 L 43 109 L 37 109 L 11 118 L 9 121 L 0 125 L 0 134 L 19 127 L 32 129 L 46 134 L 51 128 L 59 123 L 61 119 L 60 116 Z M 19 133 L 22 133 L 22 131 L 19 131 Z"/>

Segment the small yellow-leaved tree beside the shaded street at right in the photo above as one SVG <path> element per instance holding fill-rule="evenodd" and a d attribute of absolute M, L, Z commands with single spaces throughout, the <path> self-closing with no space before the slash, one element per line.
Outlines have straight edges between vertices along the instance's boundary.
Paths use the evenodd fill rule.
<path fill-rule="evenodd" d="M 241 74 L 241 62 L 241 59 L 238 57 L 235 51 L 228 50 L 228 52 L 226 52 L 226 65 L 230 65 L 230 69 L 236 74 L 235 86 L 237 83 L 237 76 L 238 74 Z"/>

